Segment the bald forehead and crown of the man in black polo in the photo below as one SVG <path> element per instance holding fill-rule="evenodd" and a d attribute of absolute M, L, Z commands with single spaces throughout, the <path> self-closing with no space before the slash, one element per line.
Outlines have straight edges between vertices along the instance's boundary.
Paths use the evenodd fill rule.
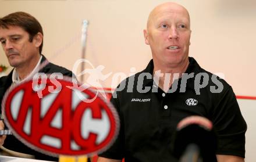
<path fill-rule="evenodd" d="M 182 21 L 190 26 L 190 16 L 187 9 L 177 5 L 161 5 L 152 10 L 148 17 L 147 27 L 158 21 Z"/>

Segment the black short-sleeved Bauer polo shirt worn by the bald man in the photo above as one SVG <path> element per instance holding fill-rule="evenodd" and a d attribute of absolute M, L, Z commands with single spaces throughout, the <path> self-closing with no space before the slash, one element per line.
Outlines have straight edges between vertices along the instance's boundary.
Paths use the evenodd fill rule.
<path fill-rule="evenodd" d="M 126 162 L 178 161 L 171 153 L 176 125 L 187 116 L 197 115 L 207 117 L 214 124 L 219 141 L 216 154 L 244 157 L 247 125 L 232 88 L 216 75 L 201 69 L 192 57 L 189 61 L 185 73 L 194 77 L 185 81 L 185 89 L 182 78 L 176 80 L 176 91 L 165 93 L 158 88 L 149 75 L 152 76 L 154 69 L 152 60 L 145 70 L 120 83 L 111 99 L 119 113 L 120 132 L 115 143 L 99 156 L 125 158 Z M 195 81 L 197 74 L 207 74 L 209 78 L 208 84 L 200 88 L 200 94 Z M 175 84 L 170 89 L 173 87 Z"/>

